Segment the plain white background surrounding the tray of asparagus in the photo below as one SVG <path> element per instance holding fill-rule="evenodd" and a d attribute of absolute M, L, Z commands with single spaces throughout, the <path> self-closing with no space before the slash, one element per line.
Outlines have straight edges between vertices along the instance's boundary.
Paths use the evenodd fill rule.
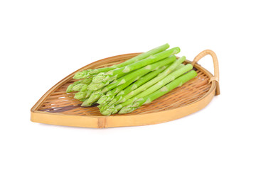
<path fill-rule="evenodd" d="M 256 169 L 253 1 L 0 1 L 0 169 Z M 43 94 L 96 60 L 168 42 L 218 55 L 220 96 L 158 125 L 30 121 Z M 210 56 L 199 64 L 213 72 Z"/>

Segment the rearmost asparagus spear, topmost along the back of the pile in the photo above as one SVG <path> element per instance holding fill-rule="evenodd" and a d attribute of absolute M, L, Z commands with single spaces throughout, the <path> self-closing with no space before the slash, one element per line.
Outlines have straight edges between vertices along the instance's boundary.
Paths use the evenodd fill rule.
<path fill-rule="evenodd" d="M 155 54 L 157 54 L 159 52 L 162 52 L 162 51 L 164 51 L 168 48 L 169 48 L 169 44 L 164 44 L 164 45 L 156 47 L 152 50 L 149 50 L 148 52 L 144 52 L 140 55 L 137 55 L 136 57 L 133 57 L 132 59 L 127 60 L 126 62 L 122 62 L 120 64 L 114 64 L 111 67 L 104 67 L 104 68 L 100 68 L 100 69 L 83 70 L 82 72 L 76 73 L 75 76 L 73 77 L 73 79 L 83 79 L 83 78 L 86 78 L 86 77 L 88 77 L 90 75 L 93 75 L 93 74 L 98 74 L 100 72 L 108 72 L 112 69 L 121 68 L 121 67 L 127 66 L 129 64 L 132 64 L 134 62 L 137 62 L 139 60 L 143 60 L 146 57 L 149 57 L 150 55 L 155 55 Z"/>

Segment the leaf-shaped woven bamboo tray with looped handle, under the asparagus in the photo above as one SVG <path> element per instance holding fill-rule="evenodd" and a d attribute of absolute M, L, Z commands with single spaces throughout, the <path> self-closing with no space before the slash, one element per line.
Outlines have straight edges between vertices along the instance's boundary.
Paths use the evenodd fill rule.
<path fill-rule="evenodd" d="M 112 64 L 124 62 L 140 53 L 117 55 L 88 64 L 83 69 L 108 67 Z M 210 55 L 213 58 L 214 76 L 208 70 L 197 64 L 202 57 Z M 211 50 L 204 50 L 197 55 L 193 64 L 198 76 L 186 82 L 168 94 L 161 96 L 150 104 L 138 108 L 136 111 L 124 115 L 103 116 L 96 106 L 81 107 L 81 101 L 73 98 L 74 94 L 66 94 L 65 89 L 73 83 L 72 77 L 76 72 L 68 75 L 55 84 L 31 108 L 31 121 L 52 125 L 65 125 L 87 128 L 110 128 L 121 126 L 151 125 L 164 123 L 182 118 L 206 107 L 213 96 L 220 94 L 218 59 Z"/>

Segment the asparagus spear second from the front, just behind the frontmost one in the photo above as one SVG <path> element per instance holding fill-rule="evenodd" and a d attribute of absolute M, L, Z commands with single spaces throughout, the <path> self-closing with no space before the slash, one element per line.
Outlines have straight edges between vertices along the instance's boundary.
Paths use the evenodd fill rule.
<path fill-rule="evenodd" d="M 184 74 L 185 72 L 188 72 L 192 68 L 193 68 L 193 66 L 191 64 L 186 64 L 185 67 L 182 67 L 181 69 L 178 69 L 175 72 L 172 72 L 171 74 L 166 76 L 164 79 L 161 79 L 161 81 L 157 82 L 153 86 L 150 86 L 149 89 L 146 89 L 145 91 L 142 91 L 142 93 L 137 94 L 137 96 L 133 95 L 132 98 L 129 98 L 129 100 L 127 100 L 127 101 L 124 101 L 124 103 L 119 103 L 116 106 L 110 106 L 110 108 L 107 108 L 107 110 L 103 111 L 102 114 L 103 115 L 110 114 L 110 112 L 112 114 L 117 113 L 124 106 L 127 106 L 127 105 L 133 103 L 138 98 L 142 98 L 144 96 L 148 96 L 149 94 L 153 93 L 154 91 L 160 89 L 162 86 L 168 84 L 170 81 L 173 81 L 174 79 L 176 79 L 176 77 L 179 77 L 182 74 Z M 127 96 L 125 96 L 124 98 L 127 98 Z"/>

